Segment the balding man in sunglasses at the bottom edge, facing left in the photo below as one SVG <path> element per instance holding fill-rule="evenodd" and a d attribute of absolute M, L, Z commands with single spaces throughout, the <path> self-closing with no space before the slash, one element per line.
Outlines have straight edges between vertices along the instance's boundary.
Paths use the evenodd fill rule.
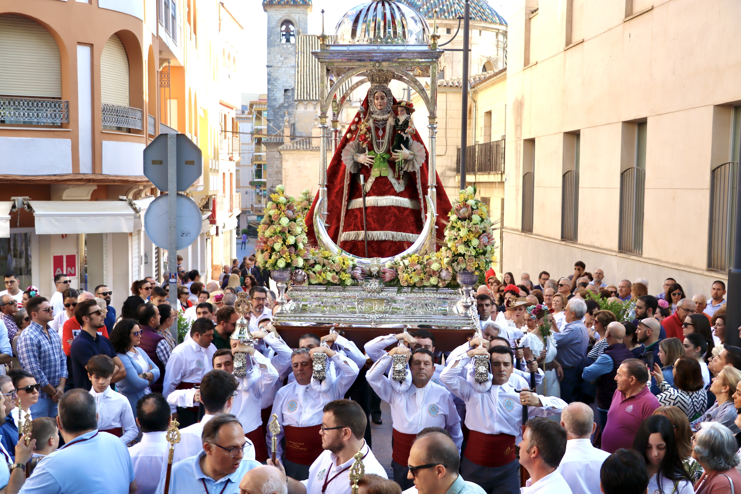
<path fill-rule="evenodd" d="M 407 478 L 414 481 L 419 494 L 485 494 L 485 490 L 463 480 L 458 473 L 458 447 L 444 429 L 428 427 L 419 431 L 409 450 L 408 464 Z M 415 467 L 422 468 L 416 470 Z M 405 492 L 411 493 L 413 488 Z"/>

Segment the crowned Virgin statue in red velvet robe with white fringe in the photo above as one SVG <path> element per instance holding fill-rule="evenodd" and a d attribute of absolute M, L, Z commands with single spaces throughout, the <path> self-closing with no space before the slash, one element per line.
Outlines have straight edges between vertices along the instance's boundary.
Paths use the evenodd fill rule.
<path fill-rule="evenodd" d="M 428 152 L 411 125 L 395 125 L 393 107 L 399 107 L 388 83 L 388 70 L 370 70 L 371 89 L 342 136 L 327 169 L 327 231 L 343 250 L 359 257 L 396 256 L 411 247 L 425 223 L 428 188 Z M 402 102 L 409 113 L 411 104 Z M 392 144 L 404 133 L 408 147 Z M 408 137 L 408 139 L 406 139 Z M 365 187 L 368 256 L 365 254 L 363 202 Z M 436 235 L 442 241 L 445 218 L 451 210 L 439 176 L 436 179 Z M 313 215 L 319 195 L 309 210 L 307 233 L 316 244 Z M 424 211 L 424 213 L 423 213 Z"/>

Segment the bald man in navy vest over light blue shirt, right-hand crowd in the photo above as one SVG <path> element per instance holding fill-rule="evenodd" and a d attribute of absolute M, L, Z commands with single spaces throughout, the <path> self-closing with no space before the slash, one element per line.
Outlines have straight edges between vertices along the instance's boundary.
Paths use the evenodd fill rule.
<path fill-rule="evenodd" d="M 617 390 L 615 374 L 622 361 L 634 358 L 631 350 L 622 342 L 625 338 L 625 326 L 617 321 L 607 325 L 605 339 L 608 346 L 605 353 L 594 361 L 589 367 L 585 367 L 582 378 L 586 381 L 597 381 L 597 411 L 599 411 L 599 427 L 605 430 L 607 424 L 607 412 L 610 410 L 612 395 Z"/>

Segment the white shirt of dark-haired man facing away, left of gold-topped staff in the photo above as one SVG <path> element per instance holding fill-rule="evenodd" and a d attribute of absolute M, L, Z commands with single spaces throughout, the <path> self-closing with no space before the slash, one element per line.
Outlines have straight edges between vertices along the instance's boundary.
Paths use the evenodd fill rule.
<path fill-rule="evenodd" d="M 167 473 L 167 456 L 170 444 L 167 431 L 143 433 L 142 441 L 129 448 L 136 475 L 136 494 L 151 494 Z M 175 447 L 177 449 L 177 446 Z"/>

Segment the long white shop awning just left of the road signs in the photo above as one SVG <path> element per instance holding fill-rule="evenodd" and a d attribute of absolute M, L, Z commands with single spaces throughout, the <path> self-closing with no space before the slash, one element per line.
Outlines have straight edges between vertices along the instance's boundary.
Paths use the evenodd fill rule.
<path fill-rule="evenodd" d="M 127 201 L 28 201 L 38 235 L 131 233 L 137 213 Z"/>

